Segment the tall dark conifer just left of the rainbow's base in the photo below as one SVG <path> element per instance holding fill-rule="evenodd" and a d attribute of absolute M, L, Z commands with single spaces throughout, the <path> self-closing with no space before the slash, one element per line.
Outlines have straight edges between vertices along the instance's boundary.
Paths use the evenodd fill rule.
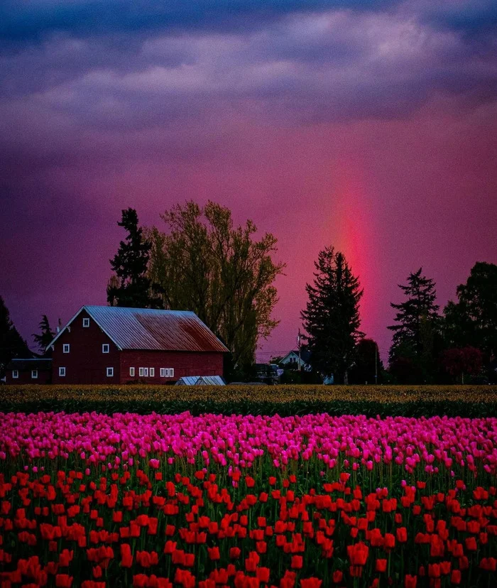
<path fill-rule="evenodd" d="M 363 290 L 344 254 L 333 247 L 320 251 L 315 268 L 314 285 L 305 285 L 309 300 L 301 312 L 312 369 L 346 381 L 356 344 L 364 336 L 359 331 Z"/>

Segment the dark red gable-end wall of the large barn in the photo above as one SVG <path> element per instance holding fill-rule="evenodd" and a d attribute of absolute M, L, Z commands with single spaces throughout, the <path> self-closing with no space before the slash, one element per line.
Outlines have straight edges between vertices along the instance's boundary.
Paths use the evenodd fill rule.
<path fill-rule="evenodd" d="M 89 327 L 83 327 L 83 318 L 89 318 Z M 70 353 L 63 353 L 62 346 L 70 344 Z M 109 353 L 102 353 L 102 344 L 109 344 Z M 111 342 L 96 322 L 83 310 L 54 344 L 52 354 L 52 381 L 57 384 L 117 384 L 120 381 L 119 349 Z M 66 375 L 59 376 L 59 367 L 65 367 Z M 107 367 L 114 368 L 114 376 L 108 377 Z"/>

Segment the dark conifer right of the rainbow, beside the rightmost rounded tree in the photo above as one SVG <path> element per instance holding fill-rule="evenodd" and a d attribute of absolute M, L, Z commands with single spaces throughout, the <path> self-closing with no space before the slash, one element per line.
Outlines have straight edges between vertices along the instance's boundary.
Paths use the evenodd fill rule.
<path fill-rule="evenodd" d="M 411 376 L 426 381 L 433 377 L 434 357 L 438 355 L 437 349 L 440 344 L 440 317 L 439 306 L 435 303 L 435 281 L 422 276 L 420 268 L 417 272 L 409 274 L 407 285 L 399 284 L 399 288 L 403 290 L 407 300 L 400 304 L 391 303 L 391 307 L 397 310 L 397 324 L 388 327 L 393 331 L 389 363 L 395 371 L 395 364 L 402 359 L 400 363 L 403 364 L 403 371 L 409 363 L 412 366 Z"/>

